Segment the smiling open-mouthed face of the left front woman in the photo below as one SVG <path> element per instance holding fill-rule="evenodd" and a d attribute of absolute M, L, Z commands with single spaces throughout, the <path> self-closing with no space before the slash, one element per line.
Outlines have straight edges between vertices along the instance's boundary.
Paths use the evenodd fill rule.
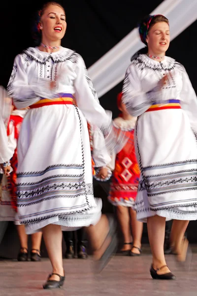
<path fill-rule="evenodd" d="M 65 36 L 66 15 L 62 7 L 50 4 L 47 6 L 40 18 L 40 30 L 42 42 L 58 41 Z"/>

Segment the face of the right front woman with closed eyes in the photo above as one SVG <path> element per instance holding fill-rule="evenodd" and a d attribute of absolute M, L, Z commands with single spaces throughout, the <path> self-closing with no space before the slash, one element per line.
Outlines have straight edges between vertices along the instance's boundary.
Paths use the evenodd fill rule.
<path fill-rule="evenodd" d="M 166 22 L 154 24 L 148 31 L 148 52 L 153 55 L 164 55 L 169 47 L 169 25 Z"/>

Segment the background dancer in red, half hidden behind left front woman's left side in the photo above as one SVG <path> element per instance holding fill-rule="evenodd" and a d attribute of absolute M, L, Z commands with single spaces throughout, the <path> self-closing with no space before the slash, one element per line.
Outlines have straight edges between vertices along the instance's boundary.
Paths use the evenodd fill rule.
<path fill-rule="evenodd" d="M 20 127 L 27 110 L 16 110 L 14 106 L 12 106 L 12 109 L 13 110 L 11 112 L 7 126 L 7 149 L 12 153 L 12 157 L 10 159 L 12 171 L 10 172 L 9 176 L 3 176 L 3 190 L 0 204 L 0 221 L 2 220 L 15 222 L 20 240 L 20 252 L 17 256 L 17 259 L 18 261 L 28 261 L 28 235 L 25 233 L 25 226 L 21 225 L 18 220 L 16 200 L 16 170 L 18 165 L 17 141 L 20 133 Z M 41 238 L 41 232 L 33 233 L 31 235 L 31 261 L 40 261 Z"/>

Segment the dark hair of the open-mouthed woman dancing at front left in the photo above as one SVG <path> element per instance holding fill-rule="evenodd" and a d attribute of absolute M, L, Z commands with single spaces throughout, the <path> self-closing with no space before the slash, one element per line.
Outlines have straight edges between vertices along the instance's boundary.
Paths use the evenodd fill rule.
<path fill-rule="evenodd" d="M 42 17 L 42 15 L 44 14 L 44 11 L 48 8 L 48 6 L 50 5 L 56 5 L 56 6 L 59 6 L 61 7 L 64 12 L 65 12 L 65 9 L 64 7 L 58 3 L 58 2 L 55 2 L 55 1 L 49 1 L 49 2 L 46 2 L 42 5 L 41 9 L 39 9 L 34 18 L 33 18 L 33 40 L 34 40 L 34 43 L 35 45 L 39 45 L 40 42 L 41 42 L 41 37 L 42 37 L 42 33 L 39 29 L 39 26 L 40 26 L 40 18 Z M 65 12 L 66 14 L 66 12 Z"/>

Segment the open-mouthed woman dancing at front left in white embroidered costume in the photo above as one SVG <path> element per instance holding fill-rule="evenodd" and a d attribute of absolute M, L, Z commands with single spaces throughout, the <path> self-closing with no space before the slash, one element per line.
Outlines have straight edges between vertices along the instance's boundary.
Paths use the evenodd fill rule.
<path fill-rule="evenodd" d="M 93 196 L 86 121 L 106 134 L 111 114 L 99 105 L 82 57 L 61 46 L 64 8 L 47 2 L 39 17 L 41 43 L 16 56 L 8 92 L 16 108 L 30 106 L 18 141 L 18 213 L 27 234 L 42 230 L 53 266 L 43 288 L 53 289 L 65 280 L 61 226 L 89 226 L 99 269 L 116 247 L 114 223 L 101 216 L 101 202 Z"/>

